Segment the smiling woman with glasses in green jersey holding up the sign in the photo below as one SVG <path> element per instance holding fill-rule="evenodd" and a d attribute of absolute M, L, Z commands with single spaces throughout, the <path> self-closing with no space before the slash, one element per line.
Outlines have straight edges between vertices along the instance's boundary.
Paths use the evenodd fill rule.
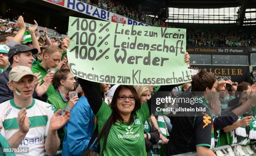
<path fill-rule="evenodd" d="M 186 53 L 185 62 L 189 63 Z M 143 126 L 150 117 L 151 100 L 140 103 L 133 86 L 120 85 L 115 90 L 111 107 L 102 101 L 100 93 L 91 81 L 78 79 L 86 98 L 97 117 L 99 133 L 108 118 L 112 119 L 105 150 L 105 156 L 146 156 Z M 174 85 L 161 86 L 159 91 L 172 91 Z M 104 138 L 100 139 L 102 150 Z"/>

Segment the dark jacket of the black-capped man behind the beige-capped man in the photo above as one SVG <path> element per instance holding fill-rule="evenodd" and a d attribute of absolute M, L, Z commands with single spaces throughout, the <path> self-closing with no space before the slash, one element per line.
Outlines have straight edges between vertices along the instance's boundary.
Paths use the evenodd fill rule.
<path fill-rule="evenodd" d="M 13 98 L 13 92 L 9 89 L 7 85 L 11 69 L 11 67 L 8 67 L 3 73 L 0 73 L 0 103 L 3 103 Z M 34 91 L 33 98 L 46 102 L 48 96 L 47 94 L 44 94 L 42 97 L 39 97 L 36 91 Z"/>

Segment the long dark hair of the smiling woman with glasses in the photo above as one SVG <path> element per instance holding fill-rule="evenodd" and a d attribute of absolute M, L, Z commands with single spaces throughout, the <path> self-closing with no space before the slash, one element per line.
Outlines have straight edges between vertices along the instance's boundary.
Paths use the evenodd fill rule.
<path fill-rule="evenodd" d="M 141 103 L 139 101 L 139 97 L 136 93 L 135 88 L 133 86 L 127 86 L 127 85 L 118 86 L 118 88 L 116 88 L 115 93 L 113 95 L 113 99 L 111 101 L 111 108 L 113 111 L 113 124 L 115 124 L 115 122 L 118 120 L 121 123 L 123 123 L 123 118 L 122 118 L 120 112 L 118 111 L 118 107 L 117 107 L 118 94 L 121 91 L 121 89 L 123 89 L 123 88 L 129 89 L 133 93 L 133 96 L 135 97 L 135 106 L 134 106 L 133 111 L 131 112 L 131 116 L 130 116 L 130 119 L 128 122 L 128 125 L 129 125 L 129 124 L 133 123 L 133 116 L 134 116 L 135 112 L 138 110 L 138 108 L 141 107 Z"/>

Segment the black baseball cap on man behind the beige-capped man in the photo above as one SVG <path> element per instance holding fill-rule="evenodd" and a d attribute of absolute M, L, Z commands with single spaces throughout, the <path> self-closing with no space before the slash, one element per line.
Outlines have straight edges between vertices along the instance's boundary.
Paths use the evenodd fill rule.
<path fill-rule="evenodd" d="M 36 55 L 38 53 L 38 50 L 36 48 L 31 48 L 28 45 L 23 45 L 23 44 L 14 45 L 12 48 L 10 48 L 8 53 L 9 61 L 11 58 L 13 58 L 14 55 L 25 52 L 25 51 L 31 51 L 33 55 Z"/>

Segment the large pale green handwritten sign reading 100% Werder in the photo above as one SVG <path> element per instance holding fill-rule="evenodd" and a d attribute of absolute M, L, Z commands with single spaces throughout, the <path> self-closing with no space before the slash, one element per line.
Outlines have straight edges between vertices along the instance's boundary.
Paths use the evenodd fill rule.
<path fill-rule="evenodd" d="M 186 30 L 69 17 L 68 61 L 90 81 L 169 85 L 191 81 L 184 62 Z"/>

